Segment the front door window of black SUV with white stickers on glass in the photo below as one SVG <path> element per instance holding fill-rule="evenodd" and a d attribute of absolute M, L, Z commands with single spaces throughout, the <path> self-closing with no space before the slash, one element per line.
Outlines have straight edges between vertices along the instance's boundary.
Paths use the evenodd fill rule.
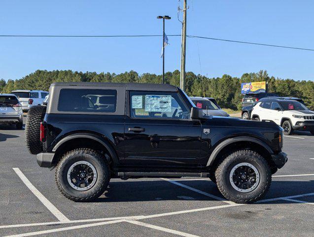
<path fill-rule="evenodd" d="M 177 93 L 130 92 L 131 118 L 190 119 L 190 111 Z"/>

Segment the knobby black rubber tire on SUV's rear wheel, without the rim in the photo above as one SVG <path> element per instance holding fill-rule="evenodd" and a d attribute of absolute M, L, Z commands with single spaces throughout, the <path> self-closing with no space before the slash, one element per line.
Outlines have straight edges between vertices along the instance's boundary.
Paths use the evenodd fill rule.
<path fill-rule="evenodd" d="M 95 184 L 88 190 L 80 191 L 74 189 L 68 181 L 68 170 L 75 162 L 87 161 L 94 166 L 97 171 Z M 59 191 L 72 201 L 92 201 L 100 197 L 108 187 L 110 181 L 110 171 L 105 156 L 97 151 L 87 148 L 79 148 L 65 154 L 59 161 L 56 174 L 56 184 Z"/>

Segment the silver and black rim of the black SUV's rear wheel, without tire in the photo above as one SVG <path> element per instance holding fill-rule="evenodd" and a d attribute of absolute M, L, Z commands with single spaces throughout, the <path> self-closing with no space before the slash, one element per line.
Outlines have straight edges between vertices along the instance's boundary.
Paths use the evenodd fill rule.
<path fill-rule="evenodd" d="M 72 164 L 67 174 L 70 186 L 78 191 L 91 189 L 97 180 L 97 171 L 90 162 L 81 160 Z"/>

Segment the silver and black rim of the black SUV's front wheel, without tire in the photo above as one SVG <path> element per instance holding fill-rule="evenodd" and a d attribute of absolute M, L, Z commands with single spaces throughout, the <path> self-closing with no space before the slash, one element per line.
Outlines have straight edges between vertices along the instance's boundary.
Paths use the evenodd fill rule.
<path fill-rule="evenodd" d="M 256 189 L 260 175 L 257 168 L 247 162 L 235 165 L 229 175 L 231 186 L 241 192 L 248 193 Z"/>

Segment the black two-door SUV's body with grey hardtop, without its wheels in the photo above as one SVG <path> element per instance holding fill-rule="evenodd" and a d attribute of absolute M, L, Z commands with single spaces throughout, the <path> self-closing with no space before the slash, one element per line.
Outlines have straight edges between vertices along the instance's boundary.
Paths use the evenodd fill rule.
<path fill-rule="evenodd" d="M 106 96 L 102 107 L 87 95 Z M 214 180 L 223 157 L 249 148 L 267 160 L 273 173 L 287 161 L 278 125 L 202 118 L 181 89 L 166 84 L 54 83 L 40 132 L 39 166 L 58 164 L 58 170 L 65 154 L 86 148 L 104 154 L 111 178 Z"/>

